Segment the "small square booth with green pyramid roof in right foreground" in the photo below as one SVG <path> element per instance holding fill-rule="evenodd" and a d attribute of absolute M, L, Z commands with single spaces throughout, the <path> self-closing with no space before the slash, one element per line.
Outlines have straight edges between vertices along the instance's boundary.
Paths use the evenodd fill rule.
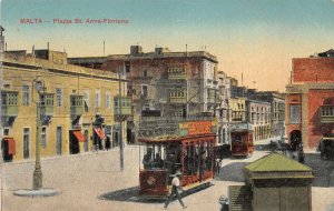
<path fill-rule="evenodd" d="M 283 154 L 271 153 L 244 170 L 245 183 L 252 190 L 252 210 L 312 210 L 314 175 L 311 168 Z"/>

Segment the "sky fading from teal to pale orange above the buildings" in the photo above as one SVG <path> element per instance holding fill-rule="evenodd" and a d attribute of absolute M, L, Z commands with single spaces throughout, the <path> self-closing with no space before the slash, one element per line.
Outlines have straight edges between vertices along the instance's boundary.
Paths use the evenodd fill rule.
<path fill-rule="evenodd" d="M 21 23 L 39 19 L 41 23 Z M 53 19 L 72 23 L 53 23 Z M 82 23 L 75 23 L 80 19 Z M 86 23 L 122 19 L 128 23 Z M 33 20 L 35 21 L 35 20 Z M 139 44 L 206 50 L 243 86 L 285 91 L 293 58 L 334 49 L 334 0 L 2 0 L 8 50 L 68 57 L 129 53 Z"/>

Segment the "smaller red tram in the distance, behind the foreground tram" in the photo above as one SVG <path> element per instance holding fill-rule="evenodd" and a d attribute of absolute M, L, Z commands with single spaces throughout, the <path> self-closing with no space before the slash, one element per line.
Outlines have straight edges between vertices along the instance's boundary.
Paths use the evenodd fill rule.
<path fill-rule="evenodd" d="M 249 130 L 230 132 L 232 155 L 249 157 L 254 152 L 253 132 Z"/>

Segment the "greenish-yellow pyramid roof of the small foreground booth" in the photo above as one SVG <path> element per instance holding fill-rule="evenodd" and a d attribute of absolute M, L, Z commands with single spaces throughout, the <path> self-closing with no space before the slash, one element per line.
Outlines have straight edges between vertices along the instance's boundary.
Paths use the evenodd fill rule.
<path fill-rule="evenodd" d="M 311 168 L 276 152 L 247 164 L 245 169 L 253 172 L 312 171 Z"/>

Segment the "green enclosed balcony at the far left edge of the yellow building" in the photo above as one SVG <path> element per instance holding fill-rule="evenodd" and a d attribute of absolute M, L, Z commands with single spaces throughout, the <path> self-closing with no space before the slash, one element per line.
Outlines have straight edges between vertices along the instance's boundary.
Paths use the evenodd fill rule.
<path fill-rule="evenodd" d="M 1 90 L 1 115 L 17 117 L 19 113 L 18 91 Z"/>

